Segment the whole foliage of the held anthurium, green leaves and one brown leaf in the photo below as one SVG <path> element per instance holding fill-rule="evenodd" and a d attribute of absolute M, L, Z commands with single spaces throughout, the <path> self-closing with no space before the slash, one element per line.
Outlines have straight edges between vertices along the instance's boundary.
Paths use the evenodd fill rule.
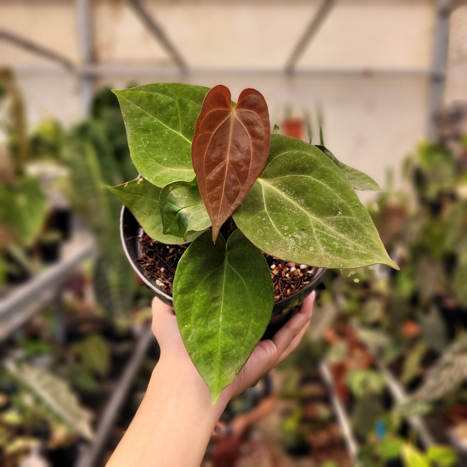
<path fill-rule="evenodd" d="M 322 145 L 271 135 L 258 91 L 243 90 L 236 104 L 223 85 L 114 92 L 141 177 L 109 188 L 156 241 L 191 242 L 177 265 L 173 304 L 213 403 L 271 317 L 263 252 L 325 268 L 397 268 L 354 192 L 378 185 Z"/>

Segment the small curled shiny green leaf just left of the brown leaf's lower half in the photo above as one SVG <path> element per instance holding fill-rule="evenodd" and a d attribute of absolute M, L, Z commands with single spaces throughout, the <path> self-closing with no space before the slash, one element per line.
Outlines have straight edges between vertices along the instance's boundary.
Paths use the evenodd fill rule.
<path fill-rule="evenodd" d="M 159 197 L 163 233 L 187 238 L 188 232 L 201 232 L 211 226 L 196 179 L 165 185 Z"/>

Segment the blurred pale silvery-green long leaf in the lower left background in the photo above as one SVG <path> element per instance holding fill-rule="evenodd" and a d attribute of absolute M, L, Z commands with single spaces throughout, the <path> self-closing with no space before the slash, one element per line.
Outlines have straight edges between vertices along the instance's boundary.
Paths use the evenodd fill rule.
<path fill-rule="evenodd" d="M 41 368 L 26 363 L 17 364 L 7 361 L 5 365 L 11 375 L 40 402 L 45 403 L 55 416 L 83 438 L 92 439 L 92 428 L 86 414 L 66 382 Z"/>

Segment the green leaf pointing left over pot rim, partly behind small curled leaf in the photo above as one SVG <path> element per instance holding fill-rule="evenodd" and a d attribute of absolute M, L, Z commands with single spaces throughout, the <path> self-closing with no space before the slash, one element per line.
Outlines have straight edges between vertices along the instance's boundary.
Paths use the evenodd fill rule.
<path fill-rule="evenodd" d="M 169 245 L 186 243 L 181 237 L 163 234 L 159 187 L 144 178 L 136 178 L 131 182 L 107 188 L 127 206 L 149 237 Z M 192 241 L 197 235 L 189 235 L 188 241 Z"/>

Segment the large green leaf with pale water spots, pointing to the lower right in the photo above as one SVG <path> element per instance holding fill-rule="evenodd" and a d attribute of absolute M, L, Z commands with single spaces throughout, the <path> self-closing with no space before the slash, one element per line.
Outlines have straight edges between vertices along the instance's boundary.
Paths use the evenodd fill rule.
<path fill-rule="evenodd" d="M 399 269 L 339 168 L 319 149 L 288 136 L 271 136 L 265 168 L 233 219 L 258 248 L 284 260 Z"/>

